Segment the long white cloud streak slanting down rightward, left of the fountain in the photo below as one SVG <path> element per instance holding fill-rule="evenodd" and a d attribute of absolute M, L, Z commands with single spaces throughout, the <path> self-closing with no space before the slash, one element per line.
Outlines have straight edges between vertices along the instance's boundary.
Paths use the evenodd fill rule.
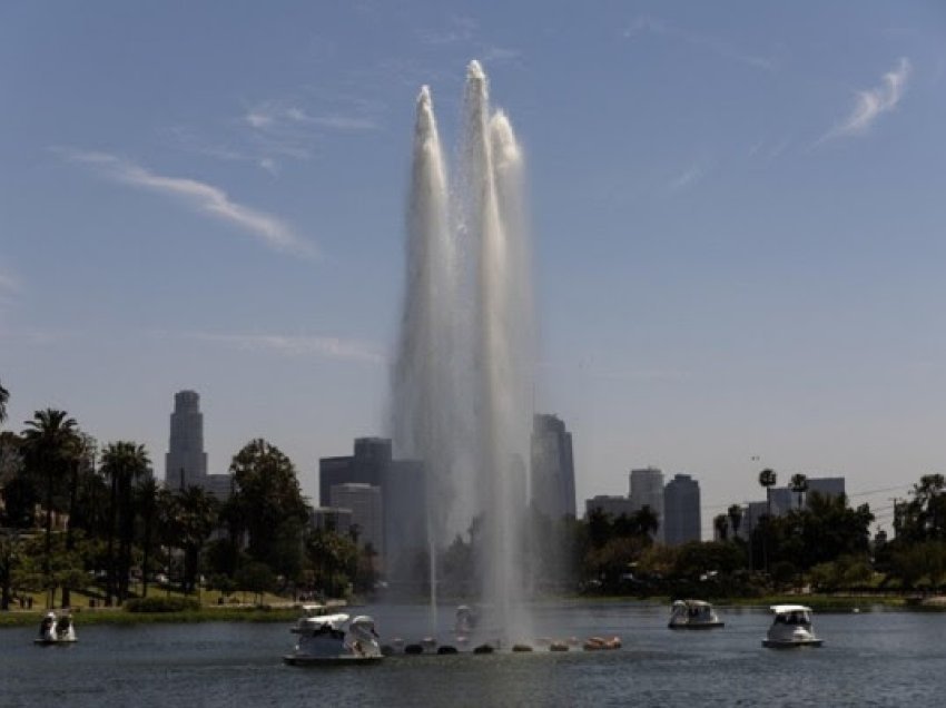
<path fill-rule="evenodd" d="M 56 149 L 72 163 L 88 165 L 115 181 L 165 195 L 191 208 L 255 236 L 266 246 L 299 256 L 315 256 L 317 250 L 278 217 L 230 199 L 226 191 L 188 177 L 158 175 L 140 165 L 110 155 L 70 149 Z"/>

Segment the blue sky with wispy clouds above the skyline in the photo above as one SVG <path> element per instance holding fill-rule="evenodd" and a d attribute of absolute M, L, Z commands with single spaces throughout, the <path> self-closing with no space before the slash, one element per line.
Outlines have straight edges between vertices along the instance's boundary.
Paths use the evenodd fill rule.
<path fill-rule="evenodd" d="M 455 145 L 479 59 L 529 174 L 535 406 L 579 509 L 693 475 L 946 473 L 946 4 L 0 3 L 7 429 L 67 410 L 164 475 L 263 436 L 385 434 L 414 101 Z"/>

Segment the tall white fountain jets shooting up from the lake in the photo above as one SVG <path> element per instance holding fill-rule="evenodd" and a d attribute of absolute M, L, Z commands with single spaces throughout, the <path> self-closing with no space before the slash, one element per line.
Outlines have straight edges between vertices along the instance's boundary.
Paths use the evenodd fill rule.
<path fill-rule="evenodd" d="M 529 636 L 523 520 L 531 423 L 531 253 L 522 150 L 467 67 L 463 138 L 450 180 L 431 92 L 421 89 L 407 209 L 407 259 L 393 371 L 395 454 L 427 470 L 432 622 L 436 549 L 479 528 L 484 622 Z M 473 532 L 471 531 L 471 534 Z"/>

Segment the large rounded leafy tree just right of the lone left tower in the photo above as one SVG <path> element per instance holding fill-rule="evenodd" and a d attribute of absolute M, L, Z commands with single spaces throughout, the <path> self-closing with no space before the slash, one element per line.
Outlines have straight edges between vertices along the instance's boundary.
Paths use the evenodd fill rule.
<path fill-rule="evenodd" d="M 275 560 L 273 570 L 288 577 L 298 568 L 300 522 L 308 521 L 295 466 L 278 448 L 257 439 L 234 456 L 230 472 L 234 491 L 227 518 L 237 520 L 248 537 L 250 558 Z"/>

